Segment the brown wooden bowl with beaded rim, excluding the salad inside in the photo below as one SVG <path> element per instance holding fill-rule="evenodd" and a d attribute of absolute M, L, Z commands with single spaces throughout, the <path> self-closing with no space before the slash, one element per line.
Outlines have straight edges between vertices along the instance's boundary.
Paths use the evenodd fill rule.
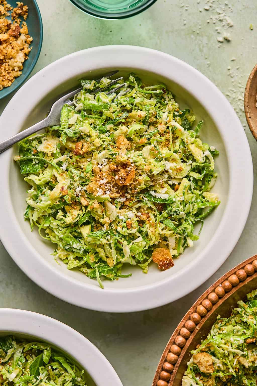
<path fill-rule="evenodd" d="M 256 288 L 257 255 L 228 271 L 191 306 L 163 351 L 152 386 L 181 386 L 191 350 L 207 337 L 217 316 L 230 316 L 237 301 Z"/>

